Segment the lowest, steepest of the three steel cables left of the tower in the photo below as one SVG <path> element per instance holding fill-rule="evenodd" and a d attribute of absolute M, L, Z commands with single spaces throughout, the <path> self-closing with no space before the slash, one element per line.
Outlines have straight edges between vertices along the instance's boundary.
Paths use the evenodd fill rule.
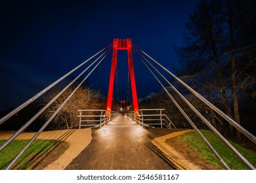
<path fill-rule="evenodd" d="M 108 52 L 109 53 L 109 52 Z M 106 54 L 107 55 L 107 54 Z M 95 71 L 96 67 L 98 67 L 98 65 L 101 63 L 101 61 L 106 57 L 106 55 L 100 59 L 100 61 L 95 65 L 95 67 L 93 67 L 93 69 L 91 70 L 91 72 L 85 76 L 85 78 L 80 82 L 80 84 L 75 88 L 75 90 L 70 93 L 70 95 L 68 96 L 68 98 L 66 98 L 66 100 L 62 103 L 62 105 L 60 105 L 60 107 L 57 108 L 57 110 L 54 112 L 54 114 L 47 120 L 47 122 L 45 122 L 45 124 L 39 129 L 39 131 L 37 131 L 37 133 L 33 136 L 33 138 L 30 140 L 30 142 L 28 142 L 28 144 L 26 144 L 26 146 L 20 151 L 20 153 L 11 161 L 11 163 L 8 165 L 8 167 L 6 168 L 6 170 L 9 170 L 12 165 L 17 161 L 18 158 L 20 158 L 20 156 L 22 156 L 22 154 L 25 152 L 25 150 L 32 144 L 32 142 L 38 137 L 38 135 L 45 129 L 45 127 L 47 127 L 47 125 L 49 125 L 49 123 L 51 122 L 51 120 L 53 120 L 53 118 L 56 116 L 56 114 L 62 109 L 62 107 L 64 107 L 64 105 L 68 102 L 68 100 L 72 97 L 72 95 L 74 95 L 74 93 L 78 90 L 78 88 L 83 84 L 83 82 L 85 82 L 85 80 L 89 77 L 89 75 L 91 75 L 91 73 L 93 73 L 93 71 Z"/>

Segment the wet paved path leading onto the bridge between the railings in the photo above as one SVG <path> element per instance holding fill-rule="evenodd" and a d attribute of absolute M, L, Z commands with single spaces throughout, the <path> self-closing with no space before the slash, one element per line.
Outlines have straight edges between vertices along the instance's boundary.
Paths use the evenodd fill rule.
<path fill-rule="evenodd" d="M 152 143 L 150 131 L 127 116 L 93 132 L 91 143 L 66 169 L 175 169 Z"/>

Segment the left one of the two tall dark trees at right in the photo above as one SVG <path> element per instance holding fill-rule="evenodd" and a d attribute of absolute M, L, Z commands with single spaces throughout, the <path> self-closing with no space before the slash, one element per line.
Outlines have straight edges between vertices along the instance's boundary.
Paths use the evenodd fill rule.
<path fill-rule="evenodd" d="M 219 24 L 222 18 L 221 9 L 218 5 L 217 1 L 200 1 L 186 24 L 184 46 L 176 49 L 176 52 L 186 65 L 186 74 L 200 75 L 198 82 L 211 92 L 219 93 L 226 113 L 232 117 L 223 72 L 223 65 L 226 63 L 221 57 L 221 44 L 224 43 L 221 39 L 223 26 Z"/>

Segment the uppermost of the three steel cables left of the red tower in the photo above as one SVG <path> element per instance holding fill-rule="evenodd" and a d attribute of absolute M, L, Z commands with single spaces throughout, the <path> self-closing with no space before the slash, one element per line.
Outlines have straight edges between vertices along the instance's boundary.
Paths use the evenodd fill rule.
<path fill-rule="evenodd" d="M 27 105 L 29 105 L 30 103 L 32 103 L 32 101 L 34 101 L 35 99 L 37 99 L 38 97 L 40 97 L 41 95 L 43 95 L 43 93 L 47 92 L 48 90 L 50 90 L 51 88 L 53 88 L 53 86 L 55 86 L 56 84 L 58 84 L 60 81 L 64 80 L 64 78 L 66 78 L 67 76 L 69 76 L 70 74 L 74 73 L 74 71 L 76 71 L 77 69 L 79 69 L 79 67 L 81 67 L 82 65 L 84 65 L 85 63 L 87 63 L 87 61 L 91 60 L 92 58 L 94 58 L 96 55 L 100 54 L 100 52 L 106 50 L 108 47 L 112 46 L 112 44 L 106 46 L 106 48 L 100 50 L 98 53 L 96 53 L 94 56 L 91 56 L 91 58 L 85 60 L 83 63 L 81 63 L 80 65 L 78 65 L 77 67 L 75 67 L 72 71 L 70 71 L 69 73 L 67 73 L 66 75 L 62 76 L 61 78 L 59 78 L 58 80 L 56 80 L 55 82 L 53 82 L 52 84 L 50 84 L 49 86 L 47 86 L 47 88 L 45 88 L 44 90 L 42 90 L 41 92 L 37 93 L 36 95 L 34 95 L 32 98 L 28 99 L 28 101 L 22 103 L 22 105 L 20 105 L 19 107 L 15 108 L 14 110 L 12 110 L 11 112 L 9 112 L 8 114 L 6 114 L 5 116 L 3 116 L 3 118 L 0 119 L 0 125 L 3 124 L 6 120 L 8 120 L 9 118 L 11 118 L 14 114 L 16 114 L 18 111 L 22 110 L 22 108 L 26 107 Z"/>

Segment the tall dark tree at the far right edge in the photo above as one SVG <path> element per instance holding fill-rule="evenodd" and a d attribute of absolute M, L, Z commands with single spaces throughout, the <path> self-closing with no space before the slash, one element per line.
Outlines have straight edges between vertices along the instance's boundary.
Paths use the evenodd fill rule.
<path fill-rule="evenodd" d="M 244 55 L 245 52 L 248 51 L 248 48 L 255 44 L 251 42 L 253 37 L 255 38 L 255 32 L 253 33 L 252 29 L 250 28 L 252 24 L 255 24 L 255 16 L 253 16 L 255 15 L 255 6 L 255 1 L 251 0 L 225 0 L 222 8 L 224 20 L 223 23 L 228 30 L 226 32 L 226 49 L 224 49 L 224 52 L 226 52 L 228 56 L 227 59 L 230 60 L 230 88 L 232 92 L 234 120 L 238 124 L 240 124 L 238 85 L 239 82 L 240 84 L 247 82 L 247 78 L 244 78 L 244 69 L 248 66 L 253 66 L 251 64 L 253 61 L 247 62 L 247 65 L 242 66 L 240 62 L 244 57 L 240 57 L 239 55 Z M 251 39 L 248 39 L 248 37 L 251 37 Z M 243 80 L 243 78 L 245 80 Z M 241 134 L 239 131 L 236 131 L 236 136 L 240 139 Z"/>

